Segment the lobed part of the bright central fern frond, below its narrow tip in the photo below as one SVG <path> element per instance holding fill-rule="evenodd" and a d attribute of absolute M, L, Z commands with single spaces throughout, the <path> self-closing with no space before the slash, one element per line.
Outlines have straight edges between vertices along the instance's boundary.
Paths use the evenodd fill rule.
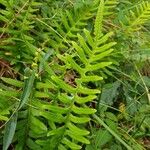
<path fill-rule="evenodd" d="M 65 125 L 61 127 L 61 130 L 58 129 L 57 131 L 56 129 L 54 129 L 49 132 L 49 135 L 51 136 L 54 135 L 54 137 L 57 139 L 59 139 L 58 138 L 59 136 L 63 137 L 60 138 L 61 140 L 56 145 L 56 147 L 58 147 L 59 149 L 60 147 L 62 148 L 62 146 L 66 149 L 67 147 L 81 149 L 78 143 L 80 142 L 83 144 L 89 143 L 89 141 L 86 138 L 86 135 L 84 135 L 84 132 L 88 133 L 88 131 L 84 129 L 84 126 L 82 128 L 85 131 L 84 132 L 81 131 L 80 132 L 81 135 L 78 135 L 79 133 L 77 134 L 75 130 L 72 130 L 70 128 L 70 125 L 73 126 L 76 130 L 79 130 L 80 123 L 84 121 L 87 122 L 90 120 L 90 117 L 88 115 L 93 114 L 95 110 L 87 107 L 86 103 L 95 99 L 96 94 L 99 93 L 100 91 L 97 89 L 87 88 L 85 85 L 86 83 L 92 81 L 92 79 L 94 79 L 94 81 L 102 80 L 102 78 L 99 76 L 91 76 L 90 75 L 91 72 L 99 70 L 111 64 L 111 62 L 103 62 L 102 60 L 104 57 L 107 57 L 112 52 L 112 49 L 110 50 L 110 48 L 115 44 L 115 43 L 104 44 L 112 33 L 108 33 L 107 35 L 98 38 L 98 40 L 95 39 L 96 41 L 92 39 L 92 36 L 90 35 L 90 32 L 88 30 L 84 29 L 84 34 L 87 35 L 86 36 L 87 42 L 85 42 L 85 40 L 83 42 L 83 36 L 79 34 L 78 34 L 79 44 L 74 41 L 72 42 L 72 46 L 76 51 L 76 55 L 72 56 L 68 54 L 65 54 L 63 56 L 61 56 L 60 54 L 58 55 L 58 58 L 64 61 L 65 63 L 64 65 L 69 67 L 66 69 L 73 68 L 76 72 L 79 73 L 80 78 L 75 79 L 75 87 L 68 85 L 68 83 L 63 81 L 63 78 L 60 78 L 58 76 L 52 76 L 53 82 L 55 82 L 55 84 L 60 89 L 63 90 L 63 93 L 60 93 L 58 95 L 57 97 L 58 100 L 60 101 L 60 103 L 62 103 L 61 104 L 62 106 L 64 105 L 63 104 L 64 102 L 65 105 L 68 104 L 67 106 L 68 111 L 66 113 L 66 116 L 68 117 L 64 120 Z M 88 41 L 90 42 L 90 44 L 93 45 L 90 45 Z M 89 45 L 92 47 L 92 49 Z M 76 62 L 76 57 L 78 57 L 81 60 L 82 65 Z M 96 64 L 96 62 L 99 63 Z M 70 93 L 70 96 L 68 94 L 64 95 L 64 93 L 68 94 Z M 85 94 L 87 96 L 82 97 L 82 94 Z M 79 106 L 76 105 L 76 103 L 78 103 Z M 56 110 L 60 109 L 59 113 L 62 114 L 61 113 L 62 108 L 60 106 L 57 107 L 58 108 Z M 63 106 L 63 109 L 64 107 L 65 106 Z M 54 112 L 56 113 L 56 111 L 54 110 L 51 111 L 53 113 Z M 83 116 L 85 119 L 83 119 Z M 72 118 L 75 118 L 76 120 Z M 80 120 L 82 120 L 82 122 L 80 122 Z"/>

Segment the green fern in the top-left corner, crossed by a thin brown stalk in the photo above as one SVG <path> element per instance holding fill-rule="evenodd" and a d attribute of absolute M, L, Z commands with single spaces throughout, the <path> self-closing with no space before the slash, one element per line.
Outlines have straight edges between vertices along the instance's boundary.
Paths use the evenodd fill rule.
<path fill-rule="evenodd" d="M 31 31 L 35 24 L 35 13 L 41 3 L 32 1 L 1 1 L 5 7 L 0 13 L 0 57 L 11 64 L 31 63 L 35 54 Z M 32 48 L 31 48 L 32 46 Z M 9 59 L 8 59 L 9 56 Z M 15 57 L 14 57 L 15 56 Z M 16 66 L 20 69 L 20 65 Z"/>

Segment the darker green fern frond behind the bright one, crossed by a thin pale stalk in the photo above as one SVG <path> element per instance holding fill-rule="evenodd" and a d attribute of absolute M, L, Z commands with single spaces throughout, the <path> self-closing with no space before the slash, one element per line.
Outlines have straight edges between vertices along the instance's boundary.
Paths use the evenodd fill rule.
<path fill-rule="evenodd" d="M 77 38 L 76 34 L 87 26 L 87 20 L 92 17 L 90 7 L 92 6 L 83 5 L 77 10 L 59 12 L 61 14 L 61 22 L 54 19 L 51 23 L 52 26 L 40 21 L 49 27 L 48 32 L 50 31 L 51 34 L 44 33 L 45 38 L 47 36 L 49 38 L 48 45 L 56 49 L 57 52 L 68 49 L 70 47 L 70 41 Z"/>

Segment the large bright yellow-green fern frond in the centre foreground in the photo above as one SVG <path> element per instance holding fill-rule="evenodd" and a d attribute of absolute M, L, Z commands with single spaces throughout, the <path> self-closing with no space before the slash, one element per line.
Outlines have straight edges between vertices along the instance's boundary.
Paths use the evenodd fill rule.
<path fill-rule="evenodd" d="M 100 7 L 102 7 L 102 5 L 100 5 Z M 95 31 L 99 33 L 99 27 L 95 26 L 95 28 Z M 99 37 L 98 39 L 95 37 L 94 40 L 92 40 L 92 36 L 88 30 L 85 29 L 84 34 L 87 38 L 87 42 L 85 42 L 84 37 L 80 34 L 77 35 L 80 45 L 75 41 L 72 42 L 75 51 L 74 54 L 57 55 L 57 57 L 64 62 L 64 68 L 66 68 L 66 70 L 72 68 L 79 74 L 80 77 L 75 79 L 75 87 L 73 85 L 68 85 L 64 81 L 64 76 L 53 75 L 51 79 L 59 89 L 55 99 L 59 105 L 55 103 L 55 101 L 54 106 L 43 106 L 42 103 L 36 104 L 36 107 L 42 106 L 51 112 L 47 112 L 47 115 L 41 112 L 43 117 L 49 119 L 49 124 L 52 127 L 48 132 L 52 146 L 51 149 L 81 149 L 81 144 L 79 145 L 79 143 L 89 144 L 86 138 L 89 132 L 84 129 L 84 125 L 82 124 L 90 120 L 89 115 L 93 114 L 95 110 L 87 107 L 86 103 L 95 99 L 96 94 L 100 91 L 87 88 L 87 83 L 102 80 L 101 77 L 92 75 L 92 72 L 111 64 L 111 62 L 101 62 L 98 64 L 96 64 L 96 62 L 107 57 L 112 52 L 112 49 L 110 49 L 111 46 L 115 43 L 101 45 L 108 40 L 111 33 Z M 77 57 L 80 63 L 76 61 L 78 60 Z M 51 117 L 48 117 L 50 115 Z M 66 117 L 63 117 L 63 115 Z M 58 126 L 58 123 L 63 123 L 64 125 Z M 41 144 L 43 147 L 47 147 L 49 145 L 49 140 L 47 142 L 37 140 L 37 143 Z"/>

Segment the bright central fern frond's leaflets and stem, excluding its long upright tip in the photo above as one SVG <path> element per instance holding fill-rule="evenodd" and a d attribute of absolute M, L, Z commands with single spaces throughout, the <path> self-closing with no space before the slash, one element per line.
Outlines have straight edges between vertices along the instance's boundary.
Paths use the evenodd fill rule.
<path fill-rule="evenodd" d="M 95 45 L 96 41 L 91 41 L 92 37 L 90 36 L 90 32 L 87 30 L 84 30 L 84 33 L 87 36 L 87 41 L 89 42 L 88 44 L 92 44 L 92 45 L 90 45 L 90 46 L 92 46 L 92 50 L 87 45 L 87 43 L 83 42 L 83 37 L 79 34 L 78 34 L 78 39 L 80 42 L 80 46 L 76 42 L 72 43 L 74 49 L 76 50 L 77 57 L 83 63 L 84 68 L 81 67 L 76 62 L 76 56 L 71 57 L 70 55 L 67 55 L 67 54 L 65 56 L 61 56 L 61 55 L 58 56 L 62 61 L 64 61 L 65 66 L 68 66 L 68 68 L 66 68 L 66 69 L 73 68 L 80 74 L 80 78 L 76 78 L 76 80 L 75 80 L 76 87 L 73 88 L 73 87 L 69 86 L 62 79 L 58 78 L 57 76 L 52 77 L 52 80 L 54 80 L 54 82 L 58 85 L 58 87 L 63 89 L 63 91 L 65 91 L 65 93 L 71 94 L 71 97 L 64 95 L 62 93 L 58 96 L 58 99 L 65 99 L 66 102 L 70 103 L 70 110 L 69 110 L 69 114 L 67 114 L 68 117 L 66 120 L 66 124 L 63 126 L 63 128 L 65 128 L 65 130 L 68 128 L 67 130 L 69 130 L 69 131 L 63 132 L 64 136 L 66 135 L 66 138 L 63 136 L 64 139 L 61 141 L 61 144 L 63 144 L 63 145 L 65 144 L 68 147 L 70 147 L 71 149 L 73 149 L 73 148 L 80 149 L 80 146 L 77 145 L 78 142 L 85 143 L 85 144 L 89 143 L 88 140 L 86 140 L 86 138 L 84 138 L 84 136 L 83 136 L 84 134 L 82 133 L 83 131 L 80 131 L 80 133 L 79 133 L 79 132 L 73 130 L 68 125 L 70 125 L 70 123 L 73 126 L 75 125 L 74 123 L 79 124 L 80 122 L 76 122 L 75 120 L 73 120 L 73 118 L 76 118 L 77 116 L 78 116 L 77 120 L 82 120 L 83 115 L 85 116 L 87 114 L 93 114 L 95 112 L 95 110 L 93 110 L 92 108 L 88 108 L 85 105 L 85 103 L 95 99 L 96 94 L 98 94 L 100 91 L 96 90 L 96 89 L 89 89 L 86 87 L 86 85 L 88 82 L 99 81 L 99 80 L 102 80 L 102 78 L 99 76 L 96 76 L 96 75 L 91 75 L 91 74 L 92 74 L 92 72 L 111 64 L 111 62 L 101 62 L 101 63 L 95 64 L 96 61 L 99 61 L 103 57 L 106 57 L 112 51 L 109 49 L 110 47 L 108 47 L 106 49 L 104 48 L 104 47 L 107 47 L 109 44 L 99 47 L 99 42 L 102 40 L 102 38 L 106 38 L 107 35 L 102 38 L 99 38 L 99 41 Z M 107 40 L 107 38 L 105 40 Z M 84 45 L 86 45 L 86 48 L 82 47 Z M 84 94 L 86 96 L 85 97 L 80 96 L 82 94 Z M 70 118 L 70 116 L 71 116 L 71 118 Z M 90 119 L 88 116 L 86 116 L 86 118 L 87 118 L 87 120 Z M 71 122 L 70 122 L 70 119 L 71 119 Z M 76 126 L 74 127 L 74 128 L 77 128 L 76 130 L 79 130 L 78 128 L 80 128 L 78 124 L 76 124 Z M 58 134 L 60 135 L 60 133 L 58 133 Z M 57 134 L 56 134 L 56 136 L 57 136 Z M 75 141 L 78 141 L 78 142 L 73 143 L 73 140 L 71 140 L 70 138 Z M 74 144 L 76 144 L 76 145 L 74 145 Z M 59 149 L 61 149 L 61 147 L 62 147 L 62 145 L 59 147 Z"/>

